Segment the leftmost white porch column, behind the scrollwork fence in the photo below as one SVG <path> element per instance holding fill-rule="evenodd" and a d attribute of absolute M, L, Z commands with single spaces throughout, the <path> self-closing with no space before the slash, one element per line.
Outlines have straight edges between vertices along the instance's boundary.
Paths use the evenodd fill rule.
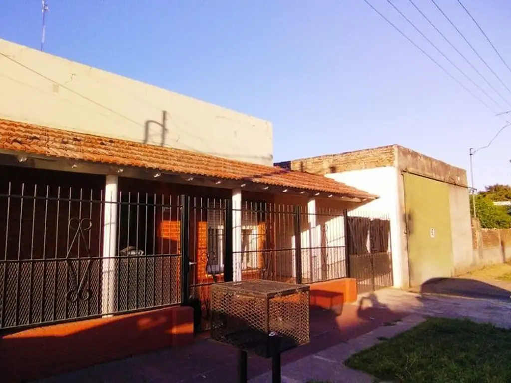
<path fill-rule="evenodd" d="M 103 265 L 101 275 L 101 310 L 105 315 L 115 310 L 115 256 L 117 255 L 117 202 L 119 177 L 107 175 L 103 212 Z"/>

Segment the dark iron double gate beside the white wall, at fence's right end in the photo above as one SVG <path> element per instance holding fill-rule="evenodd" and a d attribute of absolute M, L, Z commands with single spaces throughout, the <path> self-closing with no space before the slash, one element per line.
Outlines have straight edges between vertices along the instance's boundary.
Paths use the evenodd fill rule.
<path fill-rule="evenodd" d="M 346 249 L 350 276 L 359 294 L 392 286 L 390 220 L 386 217 L 346 219 Z"/>

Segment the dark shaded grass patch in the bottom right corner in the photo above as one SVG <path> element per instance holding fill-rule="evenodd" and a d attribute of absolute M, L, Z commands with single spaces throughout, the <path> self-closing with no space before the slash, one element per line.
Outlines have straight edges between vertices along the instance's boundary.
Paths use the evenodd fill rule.
<path fill-rule="evenodd" d="M 413 383 L 511 382 L 511 330 L 431 318 L 353 355 L 346 366 L 382 380 Z"/>

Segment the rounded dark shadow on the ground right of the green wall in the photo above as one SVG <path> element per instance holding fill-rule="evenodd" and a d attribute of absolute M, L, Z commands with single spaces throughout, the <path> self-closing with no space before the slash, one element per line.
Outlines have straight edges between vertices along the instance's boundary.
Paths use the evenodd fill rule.
<path fill-rule="evenodd" d="M 424 295 L 437 294 L 506 302 L 509 302 L 511 296 L 511 289 L 506 290 L 490 283 L 466 278 L 432 278 L 421 285 L 419 292 Z"/>

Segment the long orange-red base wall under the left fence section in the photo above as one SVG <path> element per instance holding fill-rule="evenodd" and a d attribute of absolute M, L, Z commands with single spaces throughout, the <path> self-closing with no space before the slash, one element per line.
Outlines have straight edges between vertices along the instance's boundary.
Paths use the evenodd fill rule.
<path fill-rule="evenodd" d="M 0 380 L 25 381 L 192 342 L 191 307 L 37 327 L 2 337 Z"/>

